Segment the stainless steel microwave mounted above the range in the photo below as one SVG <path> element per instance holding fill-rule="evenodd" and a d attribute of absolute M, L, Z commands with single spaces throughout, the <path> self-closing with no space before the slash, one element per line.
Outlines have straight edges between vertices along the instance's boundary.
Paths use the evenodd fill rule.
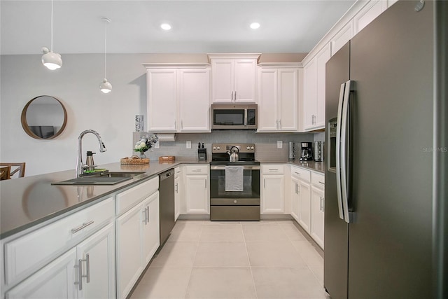
<path fill-rule="evenodd" d="M 211 129 L 256 129 L 257 104 L 211 104 Z"/>

